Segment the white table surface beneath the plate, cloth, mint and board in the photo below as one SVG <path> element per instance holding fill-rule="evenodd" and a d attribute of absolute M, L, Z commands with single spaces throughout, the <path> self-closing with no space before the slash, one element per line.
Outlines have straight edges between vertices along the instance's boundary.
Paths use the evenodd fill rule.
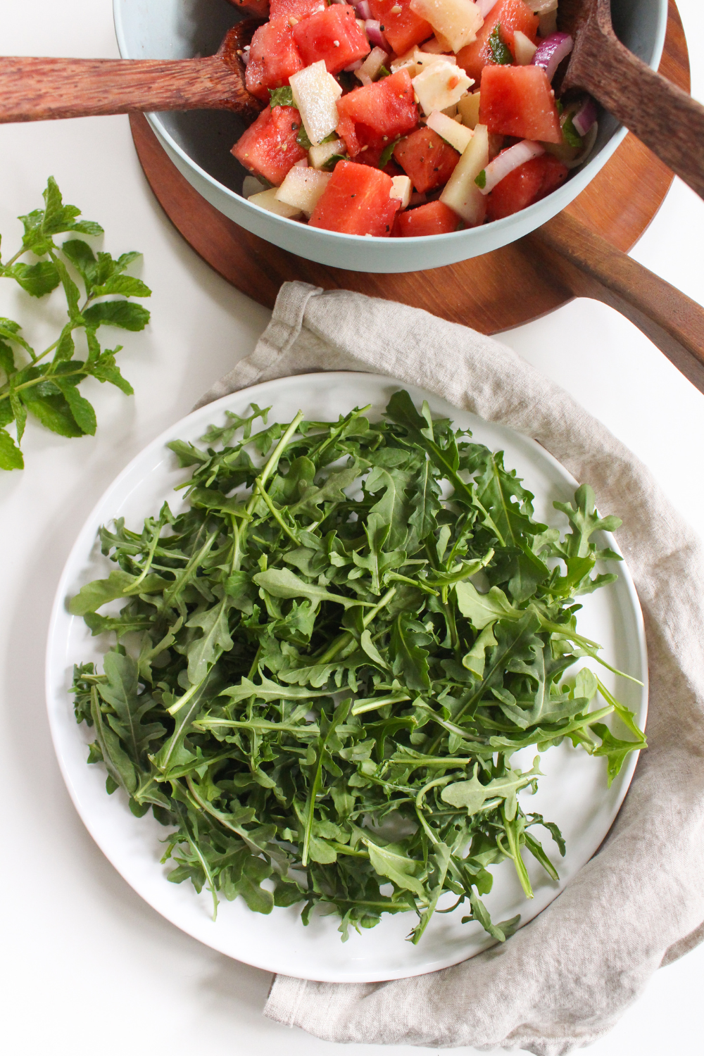
<path fill-rule="evenodd" d="M 114 57 L 111 8 L 110 0 L 0 0 L 0 50 Z M 699 0 L 680 0 L 680 10 L 693 55 L 693 92 L 703 99 L 704 10 Z M 19 243 L 15 218 L 41 204 L 50 173 L 65 201 L 102 224 L 113 254 L 144 251 L 153 322 L 145 334 L 115 335 L 125 345 L 119 361 L 133 398 L 108 385 L 85 386 L 97 409 L 96 436 L 69 440 L 31 425 L 26 469 L 0 475 L 3 1049 L 18 1056 L 121 1056 L 285 1048 L 291 1056 L 335 1056 L 341 1046 L 262 1018 L 266 973 L 183 935 L 127 886 L 84 830 L 59 774 L 44 711 L 43 658 L 50 607 L 73 540 L 133 455 L 251 351 L 269 313 L 211 271 L 171 227 L 141 174 L 126 117 L 0 129 L 5 258 Z M 633 256 L 704 303 L 703 245 L 704 204 L 676 182 Z M 0 315 L 26 319 L 32 307 L 27 332 L 39 340 L 44 329 L 53 333 L 51 308 L 0 283 Z M 505 340 L 628 444 L 704 532 L 704 396 L 646 338 L 611 309 L 579 300 Z M 700 1056 L 703 983 L 704 946 L 657 973 L 591 1052 Z"/>

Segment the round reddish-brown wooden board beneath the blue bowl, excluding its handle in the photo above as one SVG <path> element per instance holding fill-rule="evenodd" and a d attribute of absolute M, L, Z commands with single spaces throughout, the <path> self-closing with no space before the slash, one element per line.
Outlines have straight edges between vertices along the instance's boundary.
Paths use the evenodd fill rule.
<path fill-rule="evenodd" d="M 660 65 L 689 91 L 689 57 L 682 21 L 669 2 Z M 172 164 L 142 114 L 132 115 L 141 167 L 169 219 L 224 279 L 254 301 L 273 307 L 284 282 L 299 279 L 324 289 L 353 289 L 425 308 L 452 322 L 496 334 L 536 319 L 582 293 L 578 282 L 551 269 L 537 239 L 448 267 L 402 275 L 345 271 L 304 260 L 245 231 L 218 212 Z M 567 212 L 624 252 L 643 234 L 672 182 L 670 170 L 630 133 Z"/>

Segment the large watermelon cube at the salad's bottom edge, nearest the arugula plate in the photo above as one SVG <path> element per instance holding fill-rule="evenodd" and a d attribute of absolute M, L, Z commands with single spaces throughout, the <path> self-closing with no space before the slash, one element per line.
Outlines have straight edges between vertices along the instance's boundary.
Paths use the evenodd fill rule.
<path fill-rule="evenodd" d="M 391 176 L 356 162 L 338 162 L 325 191 L 308 221 L 344 234 L 388 238 L 401 203 L 391 196 Z"/>

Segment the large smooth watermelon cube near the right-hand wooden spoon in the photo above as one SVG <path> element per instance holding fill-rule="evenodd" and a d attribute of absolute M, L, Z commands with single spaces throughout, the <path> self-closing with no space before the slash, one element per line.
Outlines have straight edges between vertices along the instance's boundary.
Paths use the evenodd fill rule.
<path fill-rule="evenodd" d="M 540 67 L 484 67 L 479 121 L 497 135 L 541 143 L 563 142 L 555 94 Z"/>

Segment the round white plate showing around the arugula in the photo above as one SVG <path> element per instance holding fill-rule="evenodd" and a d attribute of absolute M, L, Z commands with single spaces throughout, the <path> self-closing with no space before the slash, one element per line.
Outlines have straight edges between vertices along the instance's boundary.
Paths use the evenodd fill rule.
<path fill-rule="evenodd" d="M 46 656 L 46 697 L 49 718 L 56 753 L 69 792 L 88 830 L 103 853 L 127 882 L 158 912 L 177 927 L 208 946 L 270 972 L 301 978 L 334 982 L 377 981 L 420 975 L 456 964 L 491 945 L 482 928 L 461 924 L 467 909 L 460 906 L 448 916 L 433 918 L 417 946 L 404 941 L 415 917 L 399 913 L 385 917 L 374 929 L 353 932 L 342 943 L 335 917 L 315 917 L 303 927 L 297 907 L 274 908 L 269 917 L 251 912 L 245 903 L 221 901 L 217 921 L 211 920 L 207 892 L 196 894 L 190 883 L 170 884 L 168 868 L 159 864 L 165 830 L 151 814 L 134 817 L 121 790 L 106 794 L 106 771 L 101 766 L 87 766 L 87 744 L 93 738 L 84 725 L 75 722 L 72 699 L 68 694 L 72 666 L 76 661 L 100 662 L 111 644 L 104 638 L 92 638 L 82 619 L 66 611 L 66 599 L 88 581 L 104 576 L 114 565 L 102 558 L 96 544 L 98 527 L 116 516 L 139 529 L 146 515 L 158 511 L 165 498 L 172 509 L 180 507 L 182 492 L 173 493 L 176 484 L 186 479 L 166 444 L 183 438 L 197 440 L 211 422 L 222 422 L 226 410 L 244 413 L 250 400 L 260 407 L 272 404 L 269 420 L 290 420 L 299 408 L 313 419 L 336 420 L 341 412 L 355 406 L 372 403 L 379 414 L 389 396 L 406 388 L 420 406 L 427 399 L 434 414 L 451 417 L 457 426 L 470 428 L 474 438 L 493 450 L 506 452 L 506 465 L 515 468 L 526 486 L 535 494 L 536 516 L 565 527 L 565 518 L 553 509 L 553 499 L 570 501 L 575 482 L 570 474 L 531 439 L 501 426 L 492 425 L 464 411 L 458 411 L 437 396 L 389 378 L 370 374 L 307 374 L 267 381 L 226 396 L 202 408 L 172 426 L 149 445 L 108 488 L 83 526 L 59 583 L 49 633 Z M 617 510 L 603 512 L 617 513 Z M 602 545 L 616 549 L 610 536 Z M 647 681 L 645 635 L 641 608 L 633 583 L 624 563 L 614 563 L 616 583 L 584 599 L 578 617 L 583 635 L 604 645 L 604 657 L 614 666 Z M 641 728 L 645 723 L 647 689 L 623 678 L 601 677 L 619 698 L 635 713 Z M 617 685 L 616 685 L 617 683 Z M 534 750 L 524 750 L 530 759 Z M 569 743 L 551 749 L 543 756 L 540 780 L 535 796 L 525 796 L 524 807 L 539 811 L 556 822 L 567 840 L 567 855 L 560 859 L 547 836 L 544 846 L 554 862 L 559 883 L 551 881 L 535 863 L 528 864 L 535 891 L 527 902 L 510 863 L 494 868 L 494 888 L 483 900 L 495 921 L 521 914 L 527 923 L 559 893 L 565 884 L 595 852 L 608 832 L 626 794 L 635 766 L 635 755 L 610 789 L 606 787 L 606 761 L 592 759 Z M 522 793 L 521 793 L 522 795 Z M 544 830 L 540 830 L 540 837 Z M 531 860 L 532 861 L 532 860 Z"/>

